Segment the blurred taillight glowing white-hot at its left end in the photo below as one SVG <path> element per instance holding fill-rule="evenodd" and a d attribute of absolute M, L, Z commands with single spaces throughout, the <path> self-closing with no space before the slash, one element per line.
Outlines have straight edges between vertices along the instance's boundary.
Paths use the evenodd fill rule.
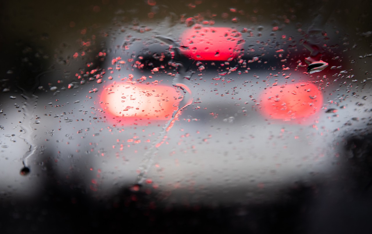
<path fill-rule="evenodd" d="M 116 83 L 101 93 L 102 108 L 111 117 L 171 119 L 179 93 L 173 86 Z"/>

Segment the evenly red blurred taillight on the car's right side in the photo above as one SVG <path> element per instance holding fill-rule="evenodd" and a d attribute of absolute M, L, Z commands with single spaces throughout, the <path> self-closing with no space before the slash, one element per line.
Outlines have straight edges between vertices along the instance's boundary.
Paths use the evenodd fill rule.
<path fill-rule="evenodd" d="M 267 88 L 261 93 L 261 111 L 268 118 L 301 122 L 323 105 L 323 95 L 312 83 L 286 84 Z"/>

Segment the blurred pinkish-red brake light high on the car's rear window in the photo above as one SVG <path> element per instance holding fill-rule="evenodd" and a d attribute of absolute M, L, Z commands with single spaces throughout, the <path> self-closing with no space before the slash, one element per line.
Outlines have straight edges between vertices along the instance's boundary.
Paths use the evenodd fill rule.
<path fill-rule="evenodd" d="M 235 59 L 243 49 L 241 33 L 228 27 L 194 27 L 181 36 L 181 53 L 194 60 Z"/>

